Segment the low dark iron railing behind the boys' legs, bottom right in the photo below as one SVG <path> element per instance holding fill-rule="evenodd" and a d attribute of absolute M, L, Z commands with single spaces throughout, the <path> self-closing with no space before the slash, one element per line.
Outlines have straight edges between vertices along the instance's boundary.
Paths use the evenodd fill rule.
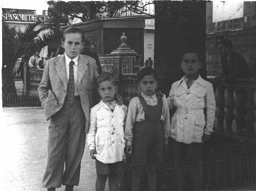
<path fill-rule="evenodd" d="M 204 145 L 203 190 L 231 190 L 248 187 L 250 184 L 255 185 L 255 145 L 224 137 L 220 140 L 220 136 L 217 135 L 216 137 L 219 138 Z M 124 178 L 120 178 L 119 181 L 121 190 L 131 190 L 132 163 L 129 158 L 126 161 Z M 165 156 L 165 163 L 159 169 L 157 177 L 157 190 L 176 190 L 172 149 L 168 156 Z M 189 181 L 185 187 L 187 190 L 192 190 L 189 176 L 187 179 Z M 147 184 L 146 176 L 143 176 L 140 190 L 148 190 Z"/>

